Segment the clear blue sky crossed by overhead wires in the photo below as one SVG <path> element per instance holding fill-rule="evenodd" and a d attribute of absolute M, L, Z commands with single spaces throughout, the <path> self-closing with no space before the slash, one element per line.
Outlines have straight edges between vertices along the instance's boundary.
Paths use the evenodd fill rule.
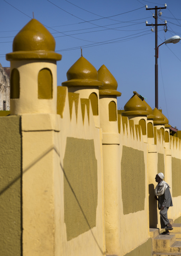
<path fill-rule="evenodd" d="M 67 80 L 66 72 L 81 56 L 82 47 L 83 56 L 97 70 L 104 64 L 116 78 L 122 93 L 118 108 L 124 108 L 133 91 L 154 108 L 155 33 L 145 21 L 151 24 L 155 19 L 154 11 L 146 10 L 145 5 L 164 7 L 165 1 L 1 0 L 0 63 L 10 66 L 4 56 L 12 51 L 14 36 L 34 12 L 35 19 L 55 37 L 56 51 L 62 54 L 57 62 L 58 85 Z M 158 23 L 167 20 L 168 31 L 158 27 L 159 44 L 173 35 L 181 36 L 181 1 L 167 0 L 166 4 Z M 159 108 L 171 126 L 181 130 L 181 42 L 160 46 L 158 64 Z"/>

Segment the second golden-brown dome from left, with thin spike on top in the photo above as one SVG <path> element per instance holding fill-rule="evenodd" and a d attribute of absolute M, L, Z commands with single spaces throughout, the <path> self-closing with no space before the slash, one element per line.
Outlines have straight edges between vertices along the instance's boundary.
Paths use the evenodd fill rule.
<path fill-rule="evenodd" d="M 67 71 L 67 80 L 62 86 L 102 86 L 95 67 L 81 56 Z"/>

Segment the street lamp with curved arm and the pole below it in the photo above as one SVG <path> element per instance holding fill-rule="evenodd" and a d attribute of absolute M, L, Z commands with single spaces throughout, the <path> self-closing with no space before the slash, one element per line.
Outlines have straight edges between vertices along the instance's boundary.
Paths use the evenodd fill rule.
<path fill-rule="evenodd" d="M 169 39 L 165 40 L 165 42 L 161 43 L 163 45 L 164 43 L 178 43 L 180 41 L 180 36 L 172 36 Z M 160 45 L 159 45 L 160 46 Z M 155 52 L 157 52 L 157 55 L 155 55 L 155 107 L 158 109 L 158 53 L 159 53 L 159 46 L 157 49 L 155 49 Z"/>

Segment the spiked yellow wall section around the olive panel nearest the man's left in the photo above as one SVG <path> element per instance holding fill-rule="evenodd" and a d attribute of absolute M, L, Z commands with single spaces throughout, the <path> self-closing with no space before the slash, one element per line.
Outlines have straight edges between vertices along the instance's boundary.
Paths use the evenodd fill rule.
<path fill-rule="evenodd" d="M 125 125 L 125 123 L 127 125 L 123 129 L 123 125 Z M 140 133 L 138 129 L 140 129 Z M 136 255 L 136 253 L 138 253 L 138 251 L 136 251 L 136 248 L 141 245 L 143 246 L 145 242 L 149 239 L 147 173 L 148 144 L 144 143 L 144 138 L 141 134 L 141 127 L 139 125 L 132 126 L 131 124 L 130 129 L 130 123 L 126 122 L 125 118 L 123 122 L 122 117 L 120 135 L 121 251 L 122 255 L 132 255 L 132 253 L 133 255 Z M 126 171 L 128 171 L 128 173 L 126 173 Z M 131 190 L 132 193 L 130 193 L 129 190 Z M 131 204 L 131 206 L 129 203 Z M 142 228 L 139 229 L 139 226 L 141 226 Z M 141 253 L 143 253 L 144 255 L 144 249 L 141 251 Z M 151 256 L 151 251 L 148 251 L 148 255 Z"/>

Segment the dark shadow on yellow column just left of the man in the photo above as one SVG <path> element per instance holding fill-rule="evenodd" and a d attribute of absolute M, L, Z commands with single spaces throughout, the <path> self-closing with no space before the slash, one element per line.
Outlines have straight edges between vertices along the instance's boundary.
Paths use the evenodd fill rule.
<path fill-rule="evenodd" d="M 154 184 L 149 184 L 149 222 L 150 228 L 156 228 L 158 224 L 157 200 L 155 200 Z"/>

